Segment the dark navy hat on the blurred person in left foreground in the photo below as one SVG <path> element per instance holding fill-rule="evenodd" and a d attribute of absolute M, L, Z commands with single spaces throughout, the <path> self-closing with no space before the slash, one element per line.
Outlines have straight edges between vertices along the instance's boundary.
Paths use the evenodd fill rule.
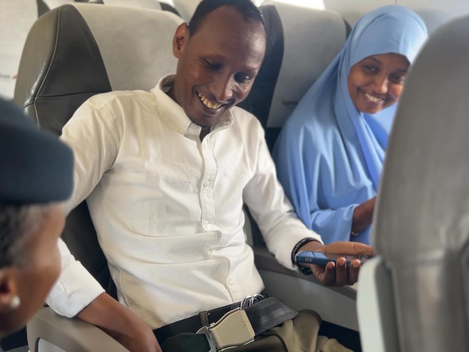
<path fill-rule="evenodd" d="M 0 99 L 0 203 L 66 200 L 73 186 L 70 148 L 13 103 Z"/>

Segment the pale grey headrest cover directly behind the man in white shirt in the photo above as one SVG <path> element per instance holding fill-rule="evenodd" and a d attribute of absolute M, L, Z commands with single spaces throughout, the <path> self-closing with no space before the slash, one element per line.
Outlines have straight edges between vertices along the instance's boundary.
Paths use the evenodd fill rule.
<path fill-rule="evenodd" d="M 74 3 L 91 30 L 112 90 L 149 90 L 176 71 L 172 38 L 182 20 L 168 11 Z"/>

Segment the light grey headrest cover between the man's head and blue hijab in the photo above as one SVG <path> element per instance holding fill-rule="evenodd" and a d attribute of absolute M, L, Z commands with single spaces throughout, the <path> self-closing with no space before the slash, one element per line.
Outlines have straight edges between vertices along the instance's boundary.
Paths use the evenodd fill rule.
<path fill-rule="evenodd" d="M 267 127 L 282 127 L 346 39 L 344 20 L 334 12 L 267 1 L 280 16 L 284 52 Z"/>

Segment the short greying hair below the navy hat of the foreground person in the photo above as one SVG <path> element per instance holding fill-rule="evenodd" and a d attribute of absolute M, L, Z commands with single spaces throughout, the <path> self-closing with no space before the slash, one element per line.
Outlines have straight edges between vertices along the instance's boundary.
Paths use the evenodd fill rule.
<path fill-rule="evenodd" d="M 0 204 L 0 269 L 25 263 L 25 244 L 42 225 L 47 205 Z"/>

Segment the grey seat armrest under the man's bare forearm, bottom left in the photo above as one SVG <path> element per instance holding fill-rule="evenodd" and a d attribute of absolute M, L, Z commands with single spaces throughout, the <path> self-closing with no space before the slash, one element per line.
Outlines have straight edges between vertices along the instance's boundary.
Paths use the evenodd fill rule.
<path fill-rule="evenodd" d="M 129 352 L 95 325 L 78 318 L 62 317 L 52 308 L 42 308 L 27 326 L 28 345 L 37 352 L 39 339 L 44 339 L 67 352 Z"/>

